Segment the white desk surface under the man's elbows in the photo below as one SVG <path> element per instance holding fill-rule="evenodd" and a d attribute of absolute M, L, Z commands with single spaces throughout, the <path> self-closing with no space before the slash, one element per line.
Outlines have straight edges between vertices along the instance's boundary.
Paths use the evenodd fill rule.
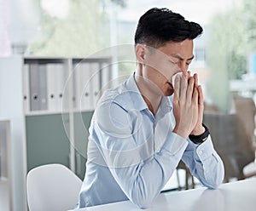
<path fill-rule="evenodd" d="M 115 202 L 90 208 L 80 208 L 79 211 L 139 211 L 130 201 Z M 160 194 L 151 206 L 143 209 L 151 211 L 255 211 L 256 210 L 256 178 L 226 183 L 217 190 L 205 187 L 189 191 L 170 191 Z"/>

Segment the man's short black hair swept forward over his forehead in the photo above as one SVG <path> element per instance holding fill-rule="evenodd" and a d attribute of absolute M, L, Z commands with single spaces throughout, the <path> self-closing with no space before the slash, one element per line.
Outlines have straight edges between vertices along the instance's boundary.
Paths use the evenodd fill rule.
<path fill-rule="evenodd" d="M 182 42 L 185 39 L 195 39 L 202 33 L 202 27 L 185 20 L 181 14 L 170 9 L 149 9 L 140 18 L 135 33 L 135 44 L 146 43 L 158 48 L 166 42 Z"/>

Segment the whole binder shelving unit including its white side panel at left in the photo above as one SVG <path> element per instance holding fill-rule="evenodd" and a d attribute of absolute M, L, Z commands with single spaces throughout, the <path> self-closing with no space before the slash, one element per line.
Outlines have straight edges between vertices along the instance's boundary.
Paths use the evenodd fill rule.
<path fill-rule="evenodd" d="M 62 163 L 84 179 L 88 128 L 102 89 L 112 87 L 110 57 L 0 59 L 0 118 L 10 119 L 14 204 L 26 210 L 26 174 Z"/>

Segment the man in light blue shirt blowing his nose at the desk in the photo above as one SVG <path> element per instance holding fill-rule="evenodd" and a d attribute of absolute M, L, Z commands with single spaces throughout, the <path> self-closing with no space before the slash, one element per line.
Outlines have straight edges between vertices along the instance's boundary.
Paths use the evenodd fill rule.
<path fill-rule="evenodd" d="M 188 72 L 201 32 L 169 9 L 140 18 L 137 70 L 102 95 L 91 120 L 79 208 L 128 199 L 147 208 L 180 160 L 208 188 L 222 183 L 224 165 L 202 124 L 201 86 Z"/>

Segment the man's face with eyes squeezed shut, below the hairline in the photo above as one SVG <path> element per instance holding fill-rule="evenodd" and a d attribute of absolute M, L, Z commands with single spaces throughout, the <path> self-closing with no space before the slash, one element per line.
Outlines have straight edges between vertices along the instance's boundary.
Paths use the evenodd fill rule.
<path fill-rule="evenodd" d="M 148 79 L 150 91 L 172 95 L 172 77 L 187 71 L 193 58 L 193 40 L 189 39 L 179 43 L 168 42 L 157 49 L 146 47 L 143 77 Z"/>

